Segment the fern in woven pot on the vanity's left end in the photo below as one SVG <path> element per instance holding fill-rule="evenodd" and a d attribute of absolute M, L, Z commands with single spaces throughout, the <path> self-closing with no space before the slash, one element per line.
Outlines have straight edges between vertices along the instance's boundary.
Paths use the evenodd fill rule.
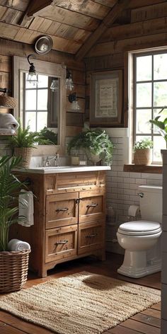
<path fill-rule="evenodd" d="M 8 147 L 13 149 L 15 156 L 22 156 L 22 166 L 28 168 L 35 144 L 50 144 L 50 141 L 44 139 L 39 132 L 30 132 L 30 125 L 23 129 L 20 120 L 18 122 L 20 126 L 16 135 L 8 137 Z"/>

